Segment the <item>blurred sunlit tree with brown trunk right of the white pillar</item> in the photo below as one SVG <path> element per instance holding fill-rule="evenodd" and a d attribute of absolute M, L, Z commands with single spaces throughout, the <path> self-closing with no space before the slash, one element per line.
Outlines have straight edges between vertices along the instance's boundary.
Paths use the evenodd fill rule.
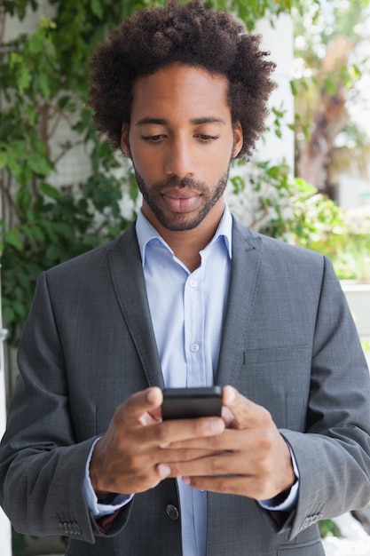
<path fill-rule="evenodd" d="M 351 165 L 367 169 L 370 138 L 366 75 L 369 73 L 369 0 L 300 2 L 292 10 L 295 29 L 295 166 L 301 176 L 330 191 Z M 327 152 L 326 152 L 327 148 Z M 320 159 L 320 156 L 323 155 Z M 315 160 L 316 159 L 316 160 Z"/>

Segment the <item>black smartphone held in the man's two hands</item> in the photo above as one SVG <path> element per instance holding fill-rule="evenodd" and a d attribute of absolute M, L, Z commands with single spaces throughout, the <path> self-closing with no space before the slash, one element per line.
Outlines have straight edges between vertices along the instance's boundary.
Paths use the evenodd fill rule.
<path fill-rule="evenodd" d="M 194 417 L 220 417 L 221 409 L 221 386 L 166 388 L 163 390 L 161 406 L 163 421 L 167 419 L 193 419 Z"/>

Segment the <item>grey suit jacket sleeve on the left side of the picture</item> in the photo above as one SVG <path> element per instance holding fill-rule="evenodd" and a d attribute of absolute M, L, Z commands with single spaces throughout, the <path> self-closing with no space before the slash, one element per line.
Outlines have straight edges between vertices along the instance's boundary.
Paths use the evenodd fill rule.
<path fill-rule="evenodd" d="M 0 447 L 0 502 L 14 528 L 36 536 L 87 542 L 103 535 L 83 497 L 86 461 L 95 436 L 76 437 L 59 332 L 45 274 L 19 349 L 20 377 Z M 130 505 L 110 528 L 125 524 Z"/>

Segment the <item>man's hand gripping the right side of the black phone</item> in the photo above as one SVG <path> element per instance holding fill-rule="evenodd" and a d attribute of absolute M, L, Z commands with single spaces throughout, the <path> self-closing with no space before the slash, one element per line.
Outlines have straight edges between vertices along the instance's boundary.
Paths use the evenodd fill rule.
<path fill-rule="evenodd" d="M 209 438 L 176 442 L 168 447 L 204 450 L 203 457 L 170 464 L 170 476 L 183 476 L 194 488 L 270 499 L 296 481 L 286 441 L 270 413 L 232 386 L 223 391 L 226 429 Z M 209 454 L 206 455 L 206 450 Z"/>

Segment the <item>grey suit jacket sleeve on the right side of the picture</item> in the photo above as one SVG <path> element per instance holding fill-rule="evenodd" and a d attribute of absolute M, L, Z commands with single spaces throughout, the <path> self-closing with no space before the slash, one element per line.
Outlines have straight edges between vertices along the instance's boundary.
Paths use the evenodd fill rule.
<path fill-rule="evenodd" d="M 318 520 L 364 507 L 370 499 L 369 370 L 350 309 L 325 259 L 312 346 L 305 433 L 282 430 L 300 473 L 294 538 Z"/>

